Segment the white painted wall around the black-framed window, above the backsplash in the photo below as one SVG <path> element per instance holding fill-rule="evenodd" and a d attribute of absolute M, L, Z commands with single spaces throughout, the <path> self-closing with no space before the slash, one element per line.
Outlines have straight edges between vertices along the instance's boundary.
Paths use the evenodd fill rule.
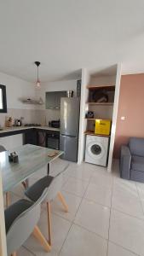
<path fill-rule="evenodd" d="M 35 84 L 22 79 L 14 78 L 5 73 L 0 73 L 0 84 L 6 85 L 7 108 L 33 109 L 34 105 L 26 105 L 20 102 L 21 97 L 34 97 Z"/>

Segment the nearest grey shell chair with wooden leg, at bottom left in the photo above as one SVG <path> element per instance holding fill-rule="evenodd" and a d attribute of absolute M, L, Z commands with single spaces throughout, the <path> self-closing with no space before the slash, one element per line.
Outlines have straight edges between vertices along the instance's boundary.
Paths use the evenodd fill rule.
<path fill-rule="evenodd" d="M 50 251 L 49 242 L 37 227 L 40 218 L 41 202 L 47 195 L 47 190 L 43 190 L 43 194 L 36 202 L 21 199 L 9 206 L 5 211 L 5 227 L 7 237 L 7 250 L 11 256 L 16 256 L 16 251 L 22 246 L 26 239 L 33 234 L 46 252 Z"/>

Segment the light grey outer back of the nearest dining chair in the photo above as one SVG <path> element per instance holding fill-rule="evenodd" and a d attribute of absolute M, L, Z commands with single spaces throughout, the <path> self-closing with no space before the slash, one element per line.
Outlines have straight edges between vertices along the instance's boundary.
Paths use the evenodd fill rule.
<path fill-rule="evenodd" d="M 28 208 L 25 212 L 14 219 L 7 233 L 7 250 L 8 253 L 13 253 L 26 241 L 32 234 L 35 225 L 40 218 L 41 207 L 40 204 L 47 195 L 47 188 L 44 189 L 43 195 L 33 203 L 32 207 Z"/>

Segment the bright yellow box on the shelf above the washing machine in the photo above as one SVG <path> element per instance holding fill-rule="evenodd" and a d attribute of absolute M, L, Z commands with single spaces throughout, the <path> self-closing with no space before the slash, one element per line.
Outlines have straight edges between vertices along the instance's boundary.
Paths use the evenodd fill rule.
<path fill-rule="evenodd" d="M 95 119 L 95 134 L 110 135 L 111 120 L 110 119 Z"/>

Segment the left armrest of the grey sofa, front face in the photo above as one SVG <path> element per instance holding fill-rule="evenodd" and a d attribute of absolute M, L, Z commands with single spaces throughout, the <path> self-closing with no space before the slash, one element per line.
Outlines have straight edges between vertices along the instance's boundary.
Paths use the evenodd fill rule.
<path fill-rule="evenodd" d="M 122 145 L 120 150 L 120 177 L 130 179 L 131 154 L 127 146 Z"/>

